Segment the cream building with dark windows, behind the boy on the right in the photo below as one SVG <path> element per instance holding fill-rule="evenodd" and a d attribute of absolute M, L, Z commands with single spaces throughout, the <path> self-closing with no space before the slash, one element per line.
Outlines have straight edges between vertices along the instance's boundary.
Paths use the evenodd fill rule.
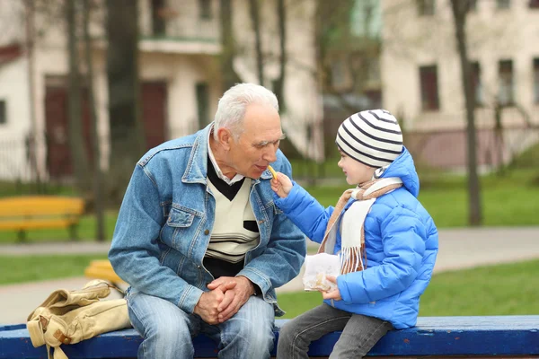
<path fill-rule="evenodd" d="M 440 134 L 418 144 L 427 159 L 447 151 L 439 162 L 464 165 L 464 90 L 450 1 L 382 0 L 382 17 L 384 108 L 408 131 Z M 488 164 L 499 126 L 512 148 L 496 161 L 508 162 L 538 140 L 538 131 L 527 129 L 539 126 L 539 2 L 474 0 L 465 29 L 478 160 Z"/>

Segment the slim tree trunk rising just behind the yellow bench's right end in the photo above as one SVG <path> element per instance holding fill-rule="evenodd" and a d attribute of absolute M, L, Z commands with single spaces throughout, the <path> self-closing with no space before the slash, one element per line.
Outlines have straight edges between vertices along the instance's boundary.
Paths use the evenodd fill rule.
<path fill-rule="evenodd" d="M 85 196 L 89 188 L 88 163 L 84 149 L 83 113 L 81 102 L 81 76 L 79 73 L 79 54 L 77 48 L 77 26 L 75 0 L 66 2 L 67 23 L 67 52 L 69 58 L 68 82 L 68 133 L 71 163 L 75 171 L 75 183 L 79 191 Z"/>

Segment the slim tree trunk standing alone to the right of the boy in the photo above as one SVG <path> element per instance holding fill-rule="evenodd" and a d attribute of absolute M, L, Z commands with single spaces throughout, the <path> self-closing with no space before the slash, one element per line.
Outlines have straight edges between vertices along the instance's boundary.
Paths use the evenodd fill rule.
<path fill-rule="evenodd" d="M 477 226 L 482 223 L 481 184 L 477 175 L 477 155 L 475 139 L 475 98 L 473 96 L 470 61 L 468 60 L 466 42 L 466 15 L 469 9 L 469 0 L 451 0 L 451 7 L 455 19 L 455 39 L 460 57 L 464 100 L 466 104 L 467 122 L 467 151 L 468 151 L 468 196 L 470 225 Z"/>

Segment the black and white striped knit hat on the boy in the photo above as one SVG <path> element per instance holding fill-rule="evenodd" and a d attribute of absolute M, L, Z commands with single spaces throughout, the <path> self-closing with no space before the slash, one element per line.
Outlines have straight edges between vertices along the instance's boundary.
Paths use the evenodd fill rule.
<path fill-rule="evenodd" d="M 335 141 L 353 159 L 380 168 L 402 153 L 402 132 L 397 119 L 385 109 L 358 112 L 340 124 Z"/>

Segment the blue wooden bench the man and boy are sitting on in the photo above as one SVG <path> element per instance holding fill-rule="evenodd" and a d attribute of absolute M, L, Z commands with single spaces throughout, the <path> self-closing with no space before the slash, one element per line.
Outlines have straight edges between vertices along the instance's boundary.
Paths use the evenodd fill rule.
<path fill-rule="evenodd" d="M 278 328 L 285 321 L 276 320 L 277 340 Z M 327 357 L 339 335 L 339 332 L 331 333 L 314 342 L 309 355 Z M 70 359 L 135 358 L 140 342 L 141 337 L 134 329 L 125 329 L 62 347 Z M 215 358 L 216 345 L 208 337 L 200 336 L 195 339 L 195 352 L 199 358 Z M 539 315 L 424 317 L 415 328 L 389 332 L 369 355 L 533 358 L 539 355 Z M 44 346 L 31 345 L 24 324 L 0 326 L 0 358 L 47 358 L 47 352 Z"/>

